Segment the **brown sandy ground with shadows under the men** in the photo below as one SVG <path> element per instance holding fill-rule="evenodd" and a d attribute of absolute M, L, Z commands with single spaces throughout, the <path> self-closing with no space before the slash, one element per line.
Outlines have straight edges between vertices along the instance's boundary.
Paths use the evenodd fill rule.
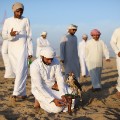
<path fill-rule="evenodd" d="M 0 56 L 0 120 L 120 120 L 120 99 L 116 96 L 117 70 L 115 59 L 104 61 L 102 71 L 102 91 L 92 92 L 90 78 L 81 78 L 83 103 L 79 103 L 72 115 L 68 113 L 52 114 L 33 107 L 31 81 L 28 75 L 26 100 L 10 101 L 14 79 L 5 79 L 5 68 Z"/>

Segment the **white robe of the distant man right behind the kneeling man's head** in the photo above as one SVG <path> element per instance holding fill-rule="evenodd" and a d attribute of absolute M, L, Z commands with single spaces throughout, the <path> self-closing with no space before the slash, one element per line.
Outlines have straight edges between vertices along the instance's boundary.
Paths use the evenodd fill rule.
<path fill-rule="evenodd" d="M 50 43 L 47 39 L 43 39 L 42 37 L 37 38 L 37 48 L 36 48 L 36 57 L 40 56 L 40 51 L 43 47 L 50 46 Z"/>

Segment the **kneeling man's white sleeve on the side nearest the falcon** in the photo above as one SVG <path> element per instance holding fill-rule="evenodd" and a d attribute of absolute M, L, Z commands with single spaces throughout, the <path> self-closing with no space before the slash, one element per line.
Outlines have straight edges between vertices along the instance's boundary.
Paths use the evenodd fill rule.
<path fill-rule="evenodd" d="M 56 66 L 55 77 L 56 77 L 56 81 L 57 81 L 61 96 L 67 94 L 66 85 L 61 72 L 60 64 Z"/>

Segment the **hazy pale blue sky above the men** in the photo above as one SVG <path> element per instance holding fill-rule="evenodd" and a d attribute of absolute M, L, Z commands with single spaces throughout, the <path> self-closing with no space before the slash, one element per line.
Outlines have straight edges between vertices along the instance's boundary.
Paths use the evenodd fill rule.
<path fill-rule="evenodd" d="M 40 33 L 47 31 L 48 40 L 58 55 L 60 39 L 71 23 L 78 25 L 78 42 L 82 34 L 88 34 L 90 39 L 90 31 L 99 29 L 110 51 L 111 35 L 120 27 L 120 0 L 0 0 L 0 22 L 5 11 L 7 17 L 13 16 L 14 2 L 22 2 L 25 6 L 23 16 L 30 19 L 34 46 Z"/>

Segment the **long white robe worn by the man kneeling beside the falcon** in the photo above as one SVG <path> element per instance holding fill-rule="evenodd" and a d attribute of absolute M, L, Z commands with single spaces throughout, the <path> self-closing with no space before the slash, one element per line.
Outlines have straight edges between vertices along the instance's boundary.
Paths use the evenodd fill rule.
<path fill-rule="evenodd" d="M 31 91 L 40 103 L 41 108 L 49 113 L 61 112 L 64 108 L 57 107 L 54 98 L 61 99 L 68 93 L 61 73 L 60 63 L 54 58 L 50 65 L 45 65 L 42 59 L 37 58 L 30 66 Z M 59 91 L 52 90 L 57 81 Z"/>

